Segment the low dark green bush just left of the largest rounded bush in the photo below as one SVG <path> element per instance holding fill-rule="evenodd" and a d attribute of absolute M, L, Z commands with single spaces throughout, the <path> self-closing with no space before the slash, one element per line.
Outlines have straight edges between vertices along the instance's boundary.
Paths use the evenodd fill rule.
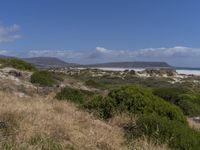
<path fill-rule="evenodd" d="M 92 95 L 93 93 L 89 91 L 65 87 L 56 94 L 56 98 L 58 100 L 69 100 L 77 104 L 83 104 Z"/>

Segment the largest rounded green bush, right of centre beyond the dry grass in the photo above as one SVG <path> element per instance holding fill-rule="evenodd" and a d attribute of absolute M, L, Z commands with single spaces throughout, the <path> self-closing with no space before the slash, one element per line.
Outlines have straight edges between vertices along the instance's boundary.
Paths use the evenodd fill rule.
<path fill-rule="evenodd" d="M 112 90 L 106 98 L 91 100 L 87 108 L 101 110 L 104 119 L 112 117 L 115 112 L 131 115 L 156 113 L 170 120 L 186 122 L 181 110 L 163 99 L 154 96 L 149 90 L 139 86 L 126 86 Z"/>

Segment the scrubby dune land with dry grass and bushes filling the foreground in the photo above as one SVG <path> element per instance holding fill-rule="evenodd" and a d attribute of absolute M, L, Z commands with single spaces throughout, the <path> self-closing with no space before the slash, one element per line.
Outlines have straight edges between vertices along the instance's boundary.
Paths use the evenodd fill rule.
<path fill-rule="evenodd" d="M 193 119 L 200 115 L 200 88 L 192 79 L 22 68 L 14 70 L 23 78 L 0 68 L 0 149 L 200 147 L 200 124 Z"/>

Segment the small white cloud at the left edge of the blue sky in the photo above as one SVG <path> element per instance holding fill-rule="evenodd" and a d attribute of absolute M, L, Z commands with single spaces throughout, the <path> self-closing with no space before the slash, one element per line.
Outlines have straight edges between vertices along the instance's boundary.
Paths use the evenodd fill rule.
<path fill-rule="evenodd" d="M 21 38 L 21 35 L 17 34 L 19 30 L 20 27 L 16 24 L 11 26 L 3 26 L 0 24 L 0 43 L 13 42 Z"/>

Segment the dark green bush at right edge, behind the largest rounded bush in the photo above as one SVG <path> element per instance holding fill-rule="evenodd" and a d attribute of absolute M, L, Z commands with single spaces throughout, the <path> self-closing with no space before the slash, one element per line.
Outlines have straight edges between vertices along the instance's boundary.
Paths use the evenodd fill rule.
<path fill-rule="evenodd" d="M 185 115 L 200 115 L 200 95 L 183 88 L 158 88 L 153 93 L 166 101 L 179 106 Z"/>

